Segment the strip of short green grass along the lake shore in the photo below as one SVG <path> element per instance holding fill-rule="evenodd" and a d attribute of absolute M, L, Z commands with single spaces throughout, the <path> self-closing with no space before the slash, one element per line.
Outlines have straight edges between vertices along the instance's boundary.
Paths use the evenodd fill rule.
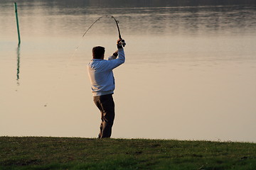
<path fill-rule="evenodd" d="M 256 169 L 256 144 L 0 137 L 0 169 Z"/>

